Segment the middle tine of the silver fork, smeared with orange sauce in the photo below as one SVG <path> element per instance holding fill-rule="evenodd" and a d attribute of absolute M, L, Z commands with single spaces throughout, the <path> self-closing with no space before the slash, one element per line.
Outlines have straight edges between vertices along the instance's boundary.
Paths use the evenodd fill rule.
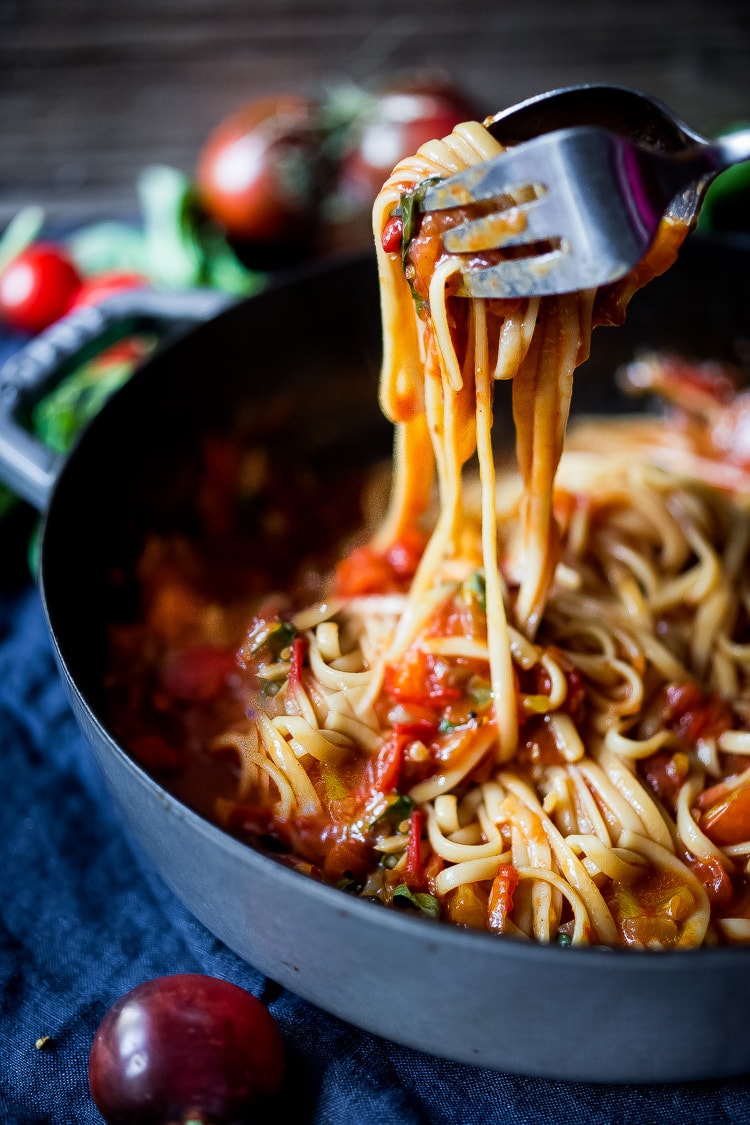
<path fill-rule="evenodd" d="M 445 232 L 443 245 L 452 254 L 468 254 L 562 238 L 567 234 L 564 216 L 559 209 L 550 207 L 549 201 L 549 197 L 543 196 L 461 223 Z"/>

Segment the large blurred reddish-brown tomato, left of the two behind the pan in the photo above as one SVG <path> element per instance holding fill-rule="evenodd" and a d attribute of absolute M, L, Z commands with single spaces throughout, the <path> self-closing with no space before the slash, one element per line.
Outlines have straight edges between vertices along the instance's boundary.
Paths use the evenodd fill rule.
<path fill-rule="evenodd" d="M 313 104 L 293 94 L 249 102 L 219 123 L 200 152 L 200 201 L 232 237 L 293 237 L 315 214 L 319 145 Z"/>

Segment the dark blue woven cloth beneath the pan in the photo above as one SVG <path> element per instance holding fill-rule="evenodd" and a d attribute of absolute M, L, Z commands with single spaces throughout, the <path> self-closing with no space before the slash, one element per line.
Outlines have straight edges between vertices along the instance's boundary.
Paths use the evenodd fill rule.
<path fill-rule="evenodd" d="M 11 346 L 0 338 L 0 359 Z M 297 1125 L 750 1122 L 750 1080 L 607 1087 L 477 1070 L 350 1027 L 242 962 L 132 850 L 30 582 L 0 592 L 0 1125 L 100 1123 L 88 1086 L 100 1019 L 136 984 L 177 972 L 268 1004 L 288 1060 L 278 1115 Z"/>

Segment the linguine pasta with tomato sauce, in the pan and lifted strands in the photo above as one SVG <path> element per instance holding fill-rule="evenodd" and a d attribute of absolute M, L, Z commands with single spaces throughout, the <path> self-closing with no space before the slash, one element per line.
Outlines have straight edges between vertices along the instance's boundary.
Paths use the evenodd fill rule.
<path fill-rule="evenodd" d="M 317 601 L 256 609 L 240 668 L 222 668 L 205 741 L 236 774 L 214 813 L 314 878 L 459 926 L 747 942 L 750 479 L 721 446 L 725 400 L 706 378 L 686 407 L 656 358 L 649 387 L 677 388 L 679 425 L 567 432 L 593 327 L 622 321 L 686 231 L 666 220 L 598 292 L 453 296 L 440 236 L 457 216 L 412 222 L 408 206 L 424 180 L 497 151 L 461 125 L 376 201 L 390 505 Z M 501 472 L 499 379 L 516 428 Z M 215 606 L 189 624 L 193 646 L 223 639 Z"/>

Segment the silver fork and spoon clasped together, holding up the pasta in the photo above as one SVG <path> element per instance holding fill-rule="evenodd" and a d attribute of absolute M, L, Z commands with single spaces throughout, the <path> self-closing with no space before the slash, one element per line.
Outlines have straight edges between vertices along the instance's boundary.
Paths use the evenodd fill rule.
<path fill-rule="evenodd" d="M 540 94 L 485 123 L 507 146 L 428 184 L 423 212 L 460 216 L 459 296 L 537 297 L 608 285 L 645 255 L 665 216 L 692 227 L 713 179 L 750 159 L 750 129 L 708 141 L 625 87 Z M 454 210 L 460 208 L 460 210 Z"/>

